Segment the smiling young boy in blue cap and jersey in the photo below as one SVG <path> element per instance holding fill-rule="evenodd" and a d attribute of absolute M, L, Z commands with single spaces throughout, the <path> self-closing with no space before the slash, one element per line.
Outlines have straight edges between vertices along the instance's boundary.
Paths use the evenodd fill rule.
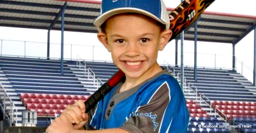
<path fill-rule="evenodd" d="M 83 101 L 68 106 L 46 132 L 186 133 L 189 113 L 180 85 L 156 62 L 172 35 L 163 1 L 102 0 L 94 24 L 126 78 L 88 114 Z"/>

